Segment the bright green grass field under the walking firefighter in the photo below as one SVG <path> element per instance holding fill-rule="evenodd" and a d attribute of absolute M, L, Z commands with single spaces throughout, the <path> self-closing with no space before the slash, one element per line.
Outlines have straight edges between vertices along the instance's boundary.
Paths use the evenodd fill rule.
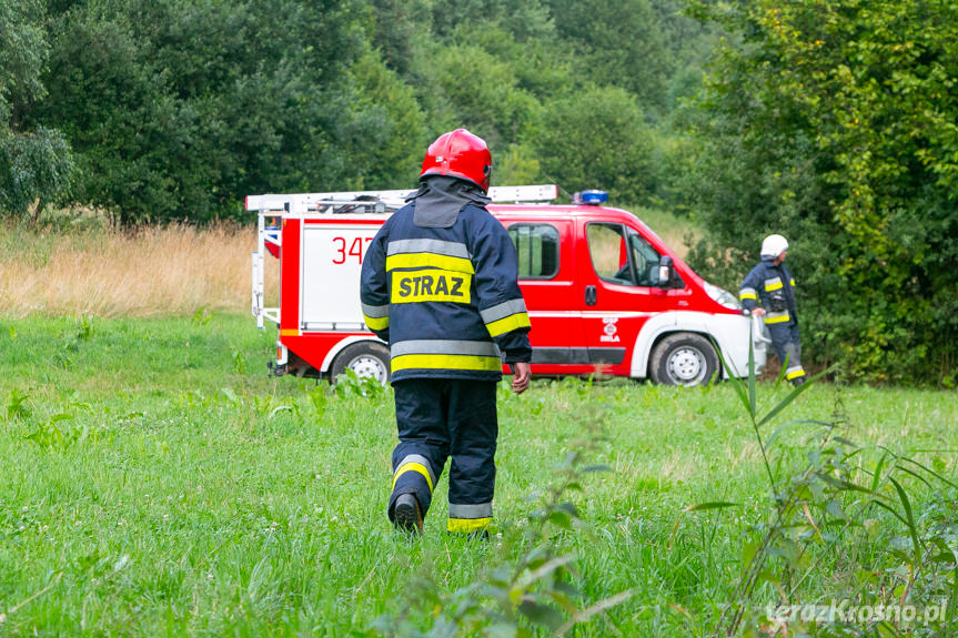
<path fill-rule="evenodd" d="M 384 514 L 392 395 L 269 378 L 274 338 L 229 315 L 0 320 L 0 636 L 551 636 L 555 624 L 522 612 L 515 622 L 437 624 L 463 600 L 480 601 L 473 617 L 497 609 L 494 597 L 462 588 L 494 586 L 492 570 L 508 571 L 537 543 L 574 556 L 566 580 L 582 591 L 576 608 L 628 593 L 593 608 L 569 636 L 712 635 L 738 601 L 774 506 L 733 384 L 536 381 L 522 396 L 503 387 L 498 534 L 487 544 L 447 537 L 443 480 L 424 537 L 410 540 Z M 762 384 L 758 404 L 770 408 L 788 393 Z M 840 435 L 866 447 L 845 459 L 849 480 L 883 474 L 877 445 L 945 480 L 918 466 L 900 473 L 907 512 L 885 487 L 901 519 L 871 507 L 834 543 L 824 525 L 817 536 L 815 525 L 789 528 L 807 551 L 783 580 L 784 544 L 748 609 L 785 590 L 801 601 L 950 591 L 954 565 L 919 579 L 908 557 L 916 539 L 934 549 L 932 536 L 958 548 L 948 485 L 955 392 L 813 386 L 763 433 L 794 419 L 841 422 Z M 805 466 L 806 437 L 818 429 L 785 426 L 769 453 L 777 477 Z M 555 467 L 571 450 L 608 466 L 562 497 L 582 525 L 566 528 L 559 517 L 535 538 L 523 535 L 535 525 L 528 496 L 559 480 Z M 848 513 L 863 498 L 835 497 Z M 680 515 L 714 502 L 737 505 Z"/>

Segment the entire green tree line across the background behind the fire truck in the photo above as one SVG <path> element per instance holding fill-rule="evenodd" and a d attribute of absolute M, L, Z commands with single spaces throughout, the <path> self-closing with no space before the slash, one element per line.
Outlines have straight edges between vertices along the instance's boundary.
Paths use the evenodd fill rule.
<path fill-rule="evenodd" d="M 958 9 L 946 0 L 7 0 L 0 213 L 242 216 L 411 188 L 470 128 L 494 184 L 689 215 L 737 290 L 788 236 L 810 354 L 956 382 Z"/>

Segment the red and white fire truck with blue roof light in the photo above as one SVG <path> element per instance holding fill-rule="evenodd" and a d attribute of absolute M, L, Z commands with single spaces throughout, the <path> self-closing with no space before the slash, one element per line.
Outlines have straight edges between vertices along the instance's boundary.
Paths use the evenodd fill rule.
<path fill-rule="evenodd" d="M 604 193 L 549 204 L 556 191 L 490 190 L 488 210 L 518 255 L 533 374 L 706 384 L 747 373 L 749 334 L 762 369 L 766 342 L 734 295 L 699 277 L 637 216 L 602 205 Z M 252 314 L 261 328 L 279 326 L 274 375 L 335 381 L 352 369 L 389 381 L 389 347 L 363 324 L 360 270 L 380 225 L 412 192 L 246 198 L 259 212 Z M 264 305 L 266 253 L 280 262 L 279 307 Z"/>

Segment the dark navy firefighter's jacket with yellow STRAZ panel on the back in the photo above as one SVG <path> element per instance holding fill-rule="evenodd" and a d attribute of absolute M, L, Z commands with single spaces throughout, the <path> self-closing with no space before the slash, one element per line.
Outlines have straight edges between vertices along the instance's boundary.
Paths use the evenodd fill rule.
<path fill-rule="evenodd" d="M 366 326 L 390 343 L 393 382 L 498 381 L 502 353 L 505 363 L 532 359 L 515 247 L 480 198 L 457 202 L 450 225 L 417 225 L 426 190 L 386 220 L 366 251 Z"/>

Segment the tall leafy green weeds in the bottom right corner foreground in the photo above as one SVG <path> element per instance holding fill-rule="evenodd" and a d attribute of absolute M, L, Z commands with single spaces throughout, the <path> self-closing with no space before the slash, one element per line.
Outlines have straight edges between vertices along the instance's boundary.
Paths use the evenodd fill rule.
<path fill-rule="evenodd" d="M 722 609 L 714 636 L 762 636 L 768 627 L 775 627 L 776 632 L 784 629 L 821 638 L 835 635 L 931 636 L 945 635 L 949 628 L 954 630 L 958 619 L 940 611 L 934 620 L 925 617 L 919 622 L 914 622 L 915 616 L 911 621 L 869 618 L 866 622 L 858 622 L 859 627 L 853 618 L 837 634 L 833 634 L 830 620 L 774 611 L 799 602 L 797 593 L 800 587 L 823 576 L 836 580 L 831 605 L 841 600 L 847 605 L 854 600 L 869 609 L 905 605 L 924 610 L 940 607 L 954 591 L 952 583 L 958 583 L 955 580 L 958 577 L 958 553 L 954 547 L 958 519 L 954 512 L 941 512 L 939 499 L 942 495 L 938 493 L 922 510 L 919 521 L 911 503 L 920 486 L 932 487 L 934 484 L 936 489 L 955 490 L 958 488 L 955 483 L 900 450 L 884 445 L 874 446 L 880 456 L 866 466 L 863 457 L 867 449 L 845 438 L 848 423 L 840 401 L 827 421 L 787 422 L 770 434 L 765 427 L 766 433 L 763 434 L 763 426 L 770 425 L 820 376 L 793 389 L 767 411 L 759 406 L 750 351 L 747 379 L 730 381 L 762 452 L 772 499 L 768 519 L 756 521 L 746 535 L 742 551 L 743 570 L 733 597 L 735 604 Z M 783 433 L 795 425 L 814 431 L 798 446 L 781 440 Z M 780 468 L 783 458 L 796 448 L 805 457 L 804 467 L 786 476 L 773 469 L 773 466 Z M 915 479 L 921 485 L 911 483 L 910 490 L 902 485 Z M 686 507 L 683 513 L 730 505 L 706 503 Z M 875 518 L 868 517 L 881 510 L 895 519 L 896 529 L 890 534 L 904 537 L 896 535 L 884 550 L 863 551 L 861 533 L 870 534 L 876 524 Z M 843 556 L 840 571 L 845 576 L 836 575 L 834 565 L 827 570 L 824 567 L 835 553 Z M 776 590 L 779 605 L 766 606 L 765 614 L 756 612 L 756 605 L 749 602 L 755 600 L 756 593 L 767 587 Z"/>

